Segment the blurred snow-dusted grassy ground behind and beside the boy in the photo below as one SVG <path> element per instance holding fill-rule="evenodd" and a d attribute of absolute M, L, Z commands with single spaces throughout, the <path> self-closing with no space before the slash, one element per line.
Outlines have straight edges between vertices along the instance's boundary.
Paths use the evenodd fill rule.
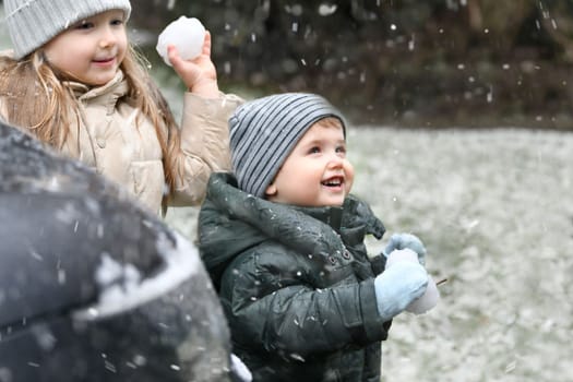
<path fill-rule="evenodd" d="M 573 134 L 354 128 L 355 193 L 420 236 L 442 300 L 398 315 L 382 380 L 571 381 Z M 170 225 L 195 237 L 193 208 Z"/>

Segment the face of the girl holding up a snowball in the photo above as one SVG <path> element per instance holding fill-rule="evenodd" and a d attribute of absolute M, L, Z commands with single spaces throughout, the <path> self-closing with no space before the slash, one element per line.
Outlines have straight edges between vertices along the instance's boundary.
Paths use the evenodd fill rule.
<path fill-rule="evenodd" d="M 71 80 L 104 85 L 116 75 L 128 49 L 121 10 L 82 20 L 48 41 L 47 60 Z"/>

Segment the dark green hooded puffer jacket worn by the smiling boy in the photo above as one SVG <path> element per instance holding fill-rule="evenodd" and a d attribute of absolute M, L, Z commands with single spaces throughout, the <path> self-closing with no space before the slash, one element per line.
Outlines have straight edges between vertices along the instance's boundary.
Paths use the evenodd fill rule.
<path fill-rule="evenodd" d="M 380 381 L 379 318 L 365 235 L 384 226 L 370 207 L 293 207 L 212 175 L 199 224 L 203 261 L 217 287 L 234 351 L 254 381 Z"/>

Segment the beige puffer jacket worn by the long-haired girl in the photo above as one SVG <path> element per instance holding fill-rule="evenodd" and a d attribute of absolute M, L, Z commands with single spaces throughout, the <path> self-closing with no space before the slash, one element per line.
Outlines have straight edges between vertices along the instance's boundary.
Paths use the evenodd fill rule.
<path fill-rule="evenodd" d="M 97 88 L 80 83 L 69 86 L 80 102 L 83 120 L 70 131 L 62 153 L 127 188 L 158 213 L 166 190 L 159 141 L 148 120 L 140 119 L 135 124 L 138 109 L 118 102 L 128 91 L 123 74 L 118 72 Z M 230 168 L 227 120 L 241 102 L 234 95 L 204 99 L 184 94 L 172 205 L 200 204 L 211 172 Z"/>

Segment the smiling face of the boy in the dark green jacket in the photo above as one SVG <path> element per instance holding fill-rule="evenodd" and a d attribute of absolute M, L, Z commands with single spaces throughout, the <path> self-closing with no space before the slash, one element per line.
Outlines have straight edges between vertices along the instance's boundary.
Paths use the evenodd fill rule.
<path fill-rule="evenodd" d="M 354 167 L 346 158 L 342 124 L 334 118 L 323 119 L 302 135 L 265 196 L 300 206 L 342 205 L 353 181 Z"/>

